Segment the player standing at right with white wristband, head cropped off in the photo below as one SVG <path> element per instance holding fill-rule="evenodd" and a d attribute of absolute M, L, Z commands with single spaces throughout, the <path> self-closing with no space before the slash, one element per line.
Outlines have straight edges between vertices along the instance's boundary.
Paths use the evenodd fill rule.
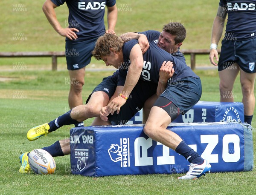
<path fill-rule="evenodd" d="M 228 15 L 218 59 L 217 45 Z M 240 72 L 244 122 L 251 124 L 255 108 L 256 0 L 220 0 L 212 25 L 210 62 L 218 66 L 222 102 L 233 102 L 233 85 Z M 218 61 L 215 63 L 214 58 Z"/>

